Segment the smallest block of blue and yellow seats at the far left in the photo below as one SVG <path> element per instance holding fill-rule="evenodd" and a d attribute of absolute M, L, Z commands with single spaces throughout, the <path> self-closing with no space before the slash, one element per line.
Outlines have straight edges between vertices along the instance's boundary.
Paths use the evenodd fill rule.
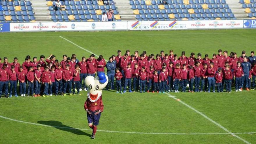
<path fill-rule="evenodd" d="M 0 22 L 35 22 L 30 1 L 0 1 Z"/>

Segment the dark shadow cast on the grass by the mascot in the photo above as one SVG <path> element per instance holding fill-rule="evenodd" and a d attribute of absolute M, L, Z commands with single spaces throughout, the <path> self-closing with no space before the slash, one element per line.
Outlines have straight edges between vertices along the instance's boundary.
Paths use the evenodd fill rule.
<path fill-rule="evenodd" d="M 83 132 L 79 129 L 73 128 L 73 127 L 69 127 L 67 125 L 63 125 L 62 122 L 58 122 L 55 120 L 49 120 L 49 121 L 43 121 L 43 120 L 39 120 L 38 123 L 43 124 L 43 125 L 49 125 L 51 127 L 55 127 L 56 129 L 62 130 L 62 131 L 67 131 L 67 132 L 71 132 L 73 134 L 77 134 L 77 135 L 86 135 L 86 136 L 91 136 L 90 134 Z"/>

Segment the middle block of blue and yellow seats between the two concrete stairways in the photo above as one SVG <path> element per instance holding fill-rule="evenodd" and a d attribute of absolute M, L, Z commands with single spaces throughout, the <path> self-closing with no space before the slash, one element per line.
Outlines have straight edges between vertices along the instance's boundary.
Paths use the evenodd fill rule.
<path fill-rule="evenodd" d="M 54 22 L 69 22 L 69 21 L 102 21 L 103 12 L 107 12 L 109 9 L 113 10 L 113 20 L 121 21 L 121 17 L 118 14 L 118 10 L 113 1 L 109 1 L 109 4 L 104 5 L 102 1 L 60 1 L 62 6 L 65 6 L 62 10 L 54 10 L 55 1 L 47 0 L 48 10 L 50 11 L 51 19 Z"/>

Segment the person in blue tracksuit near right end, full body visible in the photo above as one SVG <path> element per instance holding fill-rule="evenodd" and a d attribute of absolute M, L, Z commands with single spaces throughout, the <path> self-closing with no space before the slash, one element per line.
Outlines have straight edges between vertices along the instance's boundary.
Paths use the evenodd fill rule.
<path fill-rule="evenodd" d="M 244 73 L 244 76 L 242 77 L 242 82 L 241 82 L 242 88 L 243 88 L 243 85 L 245 84 L 245 89 L 247 91 L 250 91 L 250 89 L 248 88 L 249 87 L 248 79 L 249 79 L 249 72 L 251 69 L 251 64 L 248 62 L 248 57 L 245 56 L 243 58 L 243 63 L 241 64 L 241 67 L 242 67 L 243 73 Z M 242 90 L 242 88 L 241 88 L 241 90 Z"/>

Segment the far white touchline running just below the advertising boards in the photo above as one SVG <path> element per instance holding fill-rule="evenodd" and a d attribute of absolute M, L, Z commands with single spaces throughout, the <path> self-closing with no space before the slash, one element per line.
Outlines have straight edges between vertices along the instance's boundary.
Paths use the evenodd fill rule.
<path fill-rule="evenodd" d="M 115 34 L 115 35 L 65 35 L 65 37 L 72 36 L 136 36 L 136 35 L 204 35 L 204 34 L 256 34 L 256 33 L 163 33 L 163 34 Z M 1 36 L 0 38 L 26 38 L 26 37 L 58 37 L 58 35 L 38 35 L 38 36 Z"/>

